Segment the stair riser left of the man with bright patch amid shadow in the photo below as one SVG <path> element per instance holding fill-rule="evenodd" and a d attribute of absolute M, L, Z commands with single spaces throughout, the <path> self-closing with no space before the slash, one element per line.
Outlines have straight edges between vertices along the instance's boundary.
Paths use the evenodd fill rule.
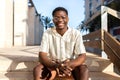
<path fill-rule="evenodd" d="M 13 61 L 2 61 L 0 62 L 0 72 L 25 72 L 33 71 L 33 68 L 37 65 L 37 62 L 13 62 Z"/>

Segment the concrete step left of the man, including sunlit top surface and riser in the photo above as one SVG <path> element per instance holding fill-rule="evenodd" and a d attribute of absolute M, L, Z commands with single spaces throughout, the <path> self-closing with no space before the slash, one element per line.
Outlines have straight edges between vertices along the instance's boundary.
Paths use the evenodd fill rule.
<path fill-rule="evenodd" d="M 36 46 L 0 49 L 0 72 L 32 71 L 38 62 L 38 52 Z"/>

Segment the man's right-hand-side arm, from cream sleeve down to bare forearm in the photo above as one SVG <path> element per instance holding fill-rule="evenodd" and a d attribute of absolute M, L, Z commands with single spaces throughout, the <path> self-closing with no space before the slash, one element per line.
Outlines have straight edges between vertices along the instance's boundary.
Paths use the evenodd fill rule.
<path fill-rule="evenodd" d="M 75 68 L 76 66 L 80 66 L 86 60 L 86 51 L 85 46 L 83 44 L 83 38 L 80 32 L 76 34 L 74 52 L 75 55 L 78 55 L 75 59 L 69 62 L 70 67 Z"/>

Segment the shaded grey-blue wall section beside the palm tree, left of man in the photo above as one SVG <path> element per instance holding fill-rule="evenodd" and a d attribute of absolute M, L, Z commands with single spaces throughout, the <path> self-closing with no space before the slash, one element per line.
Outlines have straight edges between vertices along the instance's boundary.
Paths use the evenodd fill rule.
<path fill-rule="evenodd" d="M 39 45 L 43 34 L 43 25 L 40 16 L 35 13 L 34 7 L 29 7 L 27 21 L 27 45 Z"/>

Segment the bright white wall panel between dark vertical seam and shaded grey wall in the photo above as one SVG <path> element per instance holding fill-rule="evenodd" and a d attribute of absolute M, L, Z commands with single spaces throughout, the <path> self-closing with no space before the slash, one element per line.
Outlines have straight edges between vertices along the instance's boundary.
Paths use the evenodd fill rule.
<path fill-rule="evenodd" d="M 27 0 L 14 1 L 14 46 L 26 45 L 27 12 Z"/>

